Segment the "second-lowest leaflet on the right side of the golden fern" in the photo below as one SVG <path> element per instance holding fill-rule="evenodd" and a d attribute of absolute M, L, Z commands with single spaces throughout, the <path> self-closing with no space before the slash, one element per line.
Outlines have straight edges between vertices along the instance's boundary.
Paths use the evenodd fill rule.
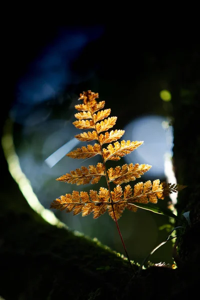
<path fill-rule="evenodd" d="M 107 170 L 109 181 L 115 184 L 127 183 L 133 181 L 136 178 L 141 177 L 143 173 L 147 172 L 151 168 L 148 164 L 133 163 L 123 164 L 121 167 L 116 166 L 115 168 L 110 167 Z"/>

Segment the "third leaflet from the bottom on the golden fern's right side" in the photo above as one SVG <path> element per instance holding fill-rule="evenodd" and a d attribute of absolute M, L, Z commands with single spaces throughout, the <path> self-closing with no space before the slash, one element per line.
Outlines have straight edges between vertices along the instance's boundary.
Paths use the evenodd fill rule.
<path fill-rule="evenodd" d="M 121 143 L 118 141 L 114 142 L 114 146 L 112 144 L 108 144 L 107 149 L 102 149 L 102 155 L 104 160 L 119 160 L 120 157 L 129 154 L 131 151 L 140 146 L 143 141 L 130 141 L 130 140 L 122 140 Z"/>

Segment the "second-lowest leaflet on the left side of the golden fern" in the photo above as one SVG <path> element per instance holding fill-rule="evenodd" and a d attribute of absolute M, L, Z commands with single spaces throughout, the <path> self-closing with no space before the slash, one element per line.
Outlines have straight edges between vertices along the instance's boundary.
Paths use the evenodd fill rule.
<path fill-rule="evenodd" d="M 89 165 L 88 168 L 86 166 L 81 166 L 81 169 L 76 168 L 75 171 L 70 171 L 56 180 L 71 184 L 76 183 L 77 185 L 89 182 L 93 184 L 97 183 L 102 175 L 105 175 L 104 169 L 103 164 L 98 162 L 96 166 Z"/>

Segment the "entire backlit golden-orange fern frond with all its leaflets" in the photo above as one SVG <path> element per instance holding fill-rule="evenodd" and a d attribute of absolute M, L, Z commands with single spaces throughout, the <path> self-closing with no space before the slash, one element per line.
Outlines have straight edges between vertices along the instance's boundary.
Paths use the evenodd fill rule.
<path fill-rule="evenodd" d="M 85 91 L 80 94 L 82 104 L 75 105 L 78 112 L 75 114 L 77 118 L 73 122 L 74 126 L 79 129 L 91 129 L 93 131 L 87 131 L 75 135 L 80 141 L 91 141 L 97 140 L 98 143 L 94 145 L 87 145 L 77 148 L 68 154 L 71 158 L 90 158 L 97 154 L 102 156 L 103 163 L 97 163 L 96 165 L 89 165 L 88 168 L 81 166 L 76 170 L 70 171 L 65 175 L 57 178 L 59 181 L 67 183 L 86 184 L 96 183 L 100 177 L 106 176 L 107 187 L 100 187 L 99 191 L 90 190 L 89 194 L 85 191 L 72 191 L 71 194 L 67 193 L 55 199 L 51 203 L 51 208 L 60 210 L 66 210 L 66 212 L 73 211 L 73 214 L 82 213 L 82 216 L 88 215 L 93 212 L 93 217 L 97 218 L 103 214 L 106 210 L 113 220 L 117 220 L 124 208 L 128 208 L 131 211 L 136 211 L 136 205 L 143 205 L 143 203 L 156 203 L 157 199 L 163 199 L 165 195 L 171 192 L 177 192 L 185 186 L 178 184 L 166 184 L 165 182 L 160 183 L 159 179 L 151 182 L 138 182 L 134 185 L 133 189 L 130 185 L 126 185 L 122 190 L 120 184 L 123 182 L 129 182 L 139 178 L 146 172 L 151 166 L 148 164 L 132 163 L 124 164 L 122 166 L 116 166 L 115 168 L 110 167 L 106 171 L 106 160 L 119 160 L 120 157 L 130 153 L 143 141 L 130 141 L 122 140 L 118 142 L 124 130 L 107 130 L 116 122 L 117 117 L 111 116 L 110 109 L 100 110 L 104 107 L 105 101 L 97 102 L 98 93 L 94 93 L 91 90 Z M 105 131 L 104 134 L 99 134 Z M 113 144 L 111 143 L 113 142 Z M 109 143 L 106 148 L 102 148 L 104 143 Z M 116 187 L 110 191 L 110 182 L 116 184 Z"/>

